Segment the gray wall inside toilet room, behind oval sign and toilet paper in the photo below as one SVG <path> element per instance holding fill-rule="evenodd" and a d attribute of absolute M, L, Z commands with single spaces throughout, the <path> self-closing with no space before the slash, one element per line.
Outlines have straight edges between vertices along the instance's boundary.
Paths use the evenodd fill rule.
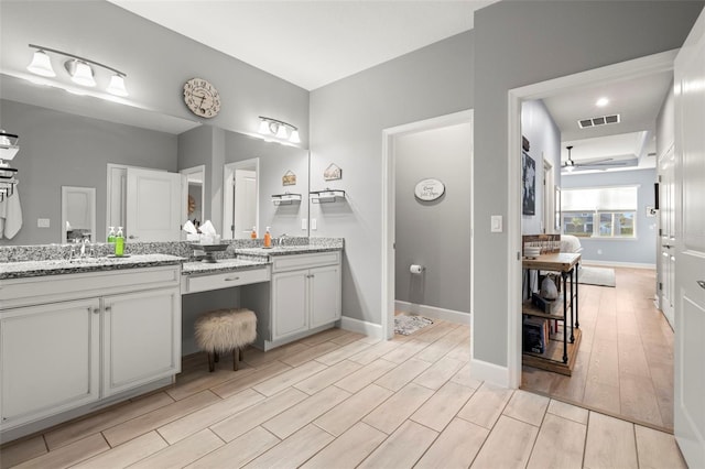
<path fill-rule="evenodd" d="M 462 123 L 394 140 L 395 299 L 470 312 L 470 151 L 473 128 Z M 435 177 L 445 194 L 414 197 L 421 179 Z M 409 266 L 421 264 L 421 275 Z"/>

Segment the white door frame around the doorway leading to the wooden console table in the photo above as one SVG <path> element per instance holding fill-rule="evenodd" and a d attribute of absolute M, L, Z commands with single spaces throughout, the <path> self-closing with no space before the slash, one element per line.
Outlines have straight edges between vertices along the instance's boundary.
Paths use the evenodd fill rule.
<path fill-rule="evenodd" d="M 550 79 L 508 92 L 508 257 L 507 305 L 508 342 L 507 342 L 507 385 L 517 389 L 521 384 L 521 162 L 516 155 L 521 149 L 521 105 L 523 101 L 543 99 L 556 92 L 577 90 L 588 85 L 618 79 L 630 79 L 660 72 L 673 70 L 673 61 L 679 50 L 661 52 L 592 70 L 581 72 L 560 78 Z M 513 254 L 516 253 L 516 254 Z M 473 328 L 473 335 L 475 335 Z"/>

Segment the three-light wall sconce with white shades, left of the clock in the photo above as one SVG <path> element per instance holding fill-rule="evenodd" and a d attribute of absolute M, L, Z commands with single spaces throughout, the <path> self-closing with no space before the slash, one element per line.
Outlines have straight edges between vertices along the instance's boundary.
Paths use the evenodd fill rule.
<path fill-rule="evenodd" d="M 95 70 L 93 66 L 105 68 L 112 74 L 110 77 L 110 84 L 106 88 L 106 91 L 115 96 L 128 96 L 128 90 L 124 87 L 124 77 L 127 77 L 127 75 L 116 68 L 109 67 L 95 61 L 90 61 L 88 58 L 69 54 L 67 52 L 62 52 L 41 45 L 30 44 L 30 47 L 35 48 L 36 51 L 34 52 L 34 56 L 32 57 L 32 63 L 28 65 L 26 69 L 35 75 L 41 75 L 43 77 L 56 76 L 56 72 L 54 72 L 54 67 L 52 67 L 52 59 L 48 54 L 46 54 L 47 52 L 51 52 L 53 54 L 63 56 L 62 59 L 67 58 L 67 61 L 64 62 L 64 68 L 66 68 L 66 72 L 68 72 L 72 81 L 82 86 L 94 87 L 96 86 L 96 79 L 94 78 Z"/>

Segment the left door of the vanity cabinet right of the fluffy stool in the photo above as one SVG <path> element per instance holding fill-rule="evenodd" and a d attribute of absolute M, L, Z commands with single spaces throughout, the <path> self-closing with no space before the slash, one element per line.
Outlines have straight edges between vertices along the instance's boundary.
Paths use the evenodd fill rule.
<path fill-rule="evenodd" d="M 293 271 L 272 275 L 272 340 L 308 329 L 307 274 Z"/>

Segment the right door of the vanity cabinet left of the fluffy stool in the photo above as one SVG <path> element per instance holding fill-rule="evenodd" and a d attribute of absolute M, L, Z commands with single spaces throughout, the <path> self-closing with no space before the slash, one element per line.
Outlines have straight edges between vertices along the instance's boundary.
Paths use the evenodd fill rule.
<path fill-rule="evenodd" d="M 104 395 L 181 371 L 178 288 L 108 296 L 104 312 Z"/>

